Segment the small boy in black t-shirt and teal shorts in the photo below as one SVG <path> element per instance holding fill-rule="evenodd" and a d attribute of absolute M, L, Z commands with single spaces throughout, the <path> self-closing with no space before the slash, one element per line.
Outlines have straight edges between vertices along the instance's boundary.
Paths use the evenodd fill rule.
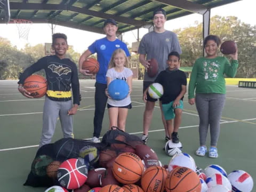
<path fill-rule="evenodd" d="M 178 52 L 171 52 L 166 62 L 168 68 L 161 71 L 154 82 L 163 86 L 164 94 L 159 100 L 162 102 L 167 130 L 171 135 L 172 142 L 179 143 L 178 130 L 181 124 L 183 97 L 187 90 L 187 77 L 183 71 L 178 69 L 180 66 L 180 54 Z M 143 94 L 145 102 L 147 101 L 147 91 L 148 89 Z"/>

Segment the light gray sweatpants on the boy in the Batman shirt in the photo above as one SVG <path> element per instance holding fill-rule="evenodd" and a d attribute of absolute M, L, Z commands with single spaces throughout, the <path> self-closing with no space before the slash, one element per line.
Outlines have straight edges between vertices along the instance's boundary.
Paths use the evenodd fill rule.
<path fill-rule="evenodd" d="M 73 138 L 73 117 L 72 115 L 68 115 L 68 110 L 72 107 L 72 100 L 53 101 L 45 97 L 43 111 L 43 129 L 39 147 L 51 142 L 58 117 L 60 117 L 63 137 Z"/>

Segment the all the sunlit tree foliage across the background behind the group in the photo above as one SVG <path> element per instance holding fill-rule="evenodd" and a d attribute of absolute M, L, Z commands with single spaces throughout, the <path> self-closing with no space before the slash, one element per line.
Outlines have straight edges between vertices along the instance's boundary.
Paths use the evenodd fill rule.
<path fill-rule="evenodd" d="M 203 55 L 202 23 L 174 32 L 182 47 L 181 66 L 193 66 L 195 60 Z M 239 67 L 236 77 L 256 77 L 256 26 L 241 22 L 236 17 L 215 16 L 211 18 L 210 34 L 220 36 L 222 41 L 234 40 L 237 43 Z M 17 79 L 20 72 L 44 55 L 42 44 L 27 44 L 24 49 L 18 50 L 8 39 L 0 37 L 0 79 Z M 67 57 L 78 65 L 80 53 L 75 52 L 73 46 L 69 46 Z M 91 57 L 96 58 L 96 55 Z M 143 79 L 145 68 L 139 63 L 139 55 L 131 57 L 130 67 L 134 66 L 139 69 L 139 79 Z M 44 73 L 39 71 L 39 74 Z"/>

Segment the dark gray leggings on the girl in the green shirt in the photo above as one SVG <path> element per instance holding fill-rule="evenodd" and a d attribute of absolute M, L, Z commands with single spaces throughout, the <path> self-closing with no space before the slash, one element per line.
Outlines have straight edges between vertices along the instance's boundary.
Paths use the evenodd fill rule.
<path fill-rule="evenodd" d="M 226 94 L 197 93 L 196 109 L 199 115 L 200 146 L 205 146 L 208 127 L 210 125 L 211 146 L 217 146 L 220 134 L 220 119 L 225 105 Z"/>

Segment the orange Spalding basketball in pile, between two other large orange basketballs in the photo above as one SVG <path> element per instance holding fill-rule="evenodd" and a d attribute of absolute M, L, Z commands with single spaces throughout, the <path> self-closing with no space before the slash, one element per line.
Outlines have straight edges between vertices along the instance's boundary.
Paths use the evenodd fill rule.
<path fill-rule="evenodd" d="M 166 170 L 161 166 L 149 167 L 141 176 L 141 188 L 145 192 L 163 192 L 167 177 Z M 193 191 L 194 192 L 194 191 Z"/>

